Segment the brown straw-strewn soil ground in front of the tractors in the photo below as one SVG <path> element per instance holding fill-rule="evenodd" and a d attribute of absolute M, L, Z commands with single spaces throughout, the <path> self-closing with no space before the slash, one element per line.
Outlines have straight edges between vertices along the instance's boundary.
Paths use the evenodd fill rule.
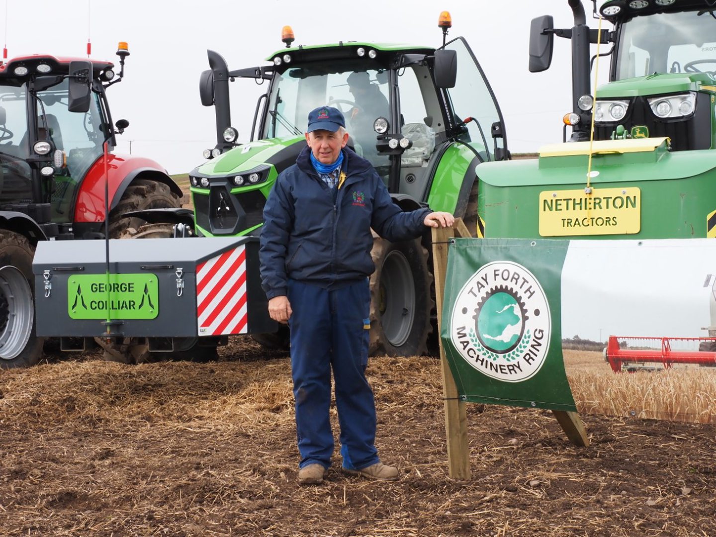
<path fill-rule="evenodd" d="M 448 476 L 440 367 L 374 358 L 395 483 L 296 484 L 289 359 L 234 338 L 218 362 L 99 354 L 0 372 L 1 536 L 714 536 L 716 426 L 468 405 Z M 335 410 L 332 419 L 337 429 Z"/>

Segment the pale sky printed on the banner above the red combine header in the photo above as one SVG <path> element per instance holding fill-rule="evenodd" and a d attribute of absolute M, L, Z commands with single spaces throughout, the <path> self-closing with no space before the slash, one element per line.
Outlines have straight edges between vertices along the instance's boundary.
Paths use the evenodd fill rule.
<path fill-rule="evenodd" d="M 571 241 L 562 269 L 562 336 L 700 337 L 710 326 L 716 244 Z M 601 339 L 599 339 L 601 334 Z"/>

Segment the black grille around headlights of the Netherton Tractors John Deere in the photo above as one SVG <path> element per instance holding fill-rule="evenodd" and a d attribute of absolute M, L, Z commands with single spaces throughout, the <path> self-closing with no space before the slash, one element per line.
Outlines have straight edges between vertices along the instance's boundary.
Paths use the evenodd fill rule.
<path fill-rule="evenodd" d="M 644 125 L 649 129 L 650 137 L 667 136 L 671 139 L 672 150 L 684 151 L 709 149 L 711 147 L 711 105 L 709 96 L 698 93 L 696 110 L 685 120 L 660 120 L 652 112 L 647 97 L 635 97 L 629 104 L 627 116 L 621 125 L 632 131 L 632 127 Z M 616 123 L 599 125 L 594 129 L 596 140 L 609 140 L 616 129 Z"/>

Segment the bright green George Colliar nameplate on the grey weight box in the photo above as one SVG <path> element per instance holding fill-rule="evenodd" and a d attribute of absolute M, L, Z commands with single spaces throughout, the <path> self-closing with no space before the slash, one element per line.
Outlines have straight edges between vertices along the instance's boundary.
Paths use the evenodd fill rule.
<path fill-rule="evenodd" d="M 78 274 L 67 280 L 71 319 L 155 319 L 159 286 L 155 274 Z M 109 308 L 109 314 L 107 309 Z"/>

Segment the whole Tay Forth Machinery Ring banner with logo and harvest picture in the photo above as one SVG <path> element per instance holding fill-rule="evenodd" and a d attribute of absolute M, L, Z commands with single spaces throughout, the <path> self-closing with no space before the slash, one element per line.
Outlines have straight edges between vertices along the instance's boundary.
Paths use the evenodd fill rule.
<path fill-rule="evenodd" d="M 471 402 L 716 422 L 716 241 L 456 238 L 442 338 Z"/>

